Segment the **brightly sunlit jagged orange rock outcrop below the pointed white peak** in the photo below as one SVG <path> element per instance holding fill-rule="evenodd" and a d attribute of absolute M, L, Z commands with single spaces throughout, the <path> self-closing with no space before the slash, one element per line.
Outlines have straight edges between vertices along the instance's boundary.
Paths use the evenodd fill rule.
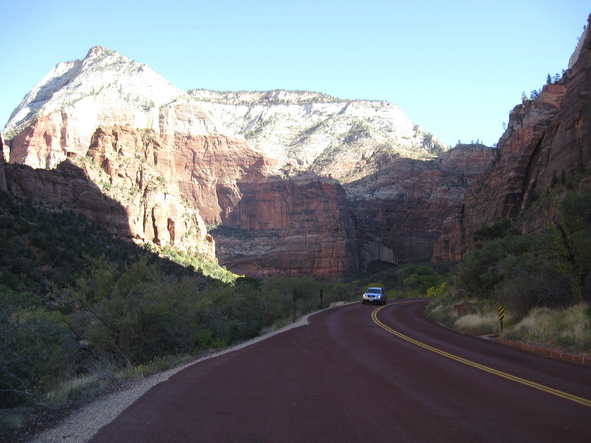
<path fill-rule="evenodd" d="M 106 193 L 127 207 L 133 238 L 215 259 L 213 239 L 198 210 L 185 202 L 170 148 L 157 134 L 129 126 L 98 128 L 87 156 L 100 166 L 98 172 L 89 168 L 91 179 L 102 181 Z"/>

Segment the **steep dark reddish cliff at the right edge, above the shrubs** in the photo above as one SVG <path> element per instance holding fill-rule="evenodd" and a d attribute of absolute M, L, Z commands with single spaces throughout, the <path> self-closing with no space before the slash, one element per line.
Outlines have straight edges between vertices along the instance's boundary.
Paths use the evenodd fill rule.
<path fill-rule="evenodd" d="M 552 181 L 590 167 L 589 27 L 558 84 L 544 86 L 538 98 L 514 108 L 497 148 L 499 158 L 466 193 L 464 210 L 445 222 L 435 259 L 461 259 L 474 246 L 474 231 L 498 219 L 522 216 L 523 231 L 537 231 L 546 220 L 545 209 L 528 208 Z"/>

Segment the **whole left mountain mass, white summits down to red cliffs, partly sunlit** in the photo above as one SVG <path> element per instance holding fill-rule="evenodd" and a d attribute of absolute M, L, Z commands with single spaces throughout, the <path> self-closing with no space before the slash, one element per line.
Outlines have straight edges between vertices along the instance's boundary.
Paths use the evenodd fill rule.
<path fill-rule="evenodd" d="M 343 188 L 306 169 L 352 180 L 380 167 L 376 159 L 447 149 L 391 103 L 186 94 L 100 46 L 53 68 L 5 130 L 11 162 L 38 168 L 11 168 L 9 192 L 79 210 L 124 238 L 210 256 L 204 223 L 226 226 L 234 231 L 215 230 L 220 262 L 255 275 L 358 267 Z M 77 177 L 75 186 L 63 174 Z"/>

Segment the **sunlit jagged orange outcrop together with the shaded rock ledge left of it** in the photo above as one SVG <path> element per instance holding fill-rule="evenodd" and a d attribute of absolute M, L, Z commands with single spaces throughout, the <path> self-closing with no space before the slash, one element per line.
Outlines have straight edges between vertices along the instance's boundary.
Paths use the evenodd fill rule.
<path fill-rule="evenodd" d="M 6 165 L 7 191 L 49 210 L 84 214 L 120 238 L 170 244 L 215 260 L 215 243 L 198 210 L 160 174 L 172 167 L 170 151 L 150 131 L 98 128 L 84 158 L 51 170 Z"/>

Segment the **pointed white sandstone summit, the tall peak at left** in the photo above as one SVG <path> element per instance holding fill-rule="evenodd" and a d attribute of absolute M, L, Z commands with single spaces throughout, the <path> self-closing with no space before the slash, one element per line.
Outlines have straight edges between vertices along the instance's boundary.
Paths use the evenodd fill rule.
<path fill-rule="evenodd" d="M 156 129 L 158 108 L 182 94 L 147 65 L 95 46 L 83 60 L 58 63 L 34 86 L 13 111 L 4 134 L 10 139 L 34 117 L 64 109 L 78 115 L 78 124 L 91 131 L 118 120 Z"/>

